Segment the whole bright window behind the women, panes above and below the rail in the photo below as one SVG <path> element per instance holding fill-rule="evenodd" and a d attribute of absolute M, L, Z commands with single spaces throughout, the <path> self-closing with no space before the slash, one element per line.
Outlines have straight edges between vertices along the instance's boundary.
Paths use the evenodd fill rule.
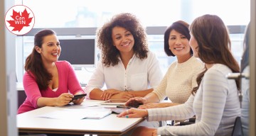
<path fill-rule="evenodd" d="M 155 27 L 158 29 L 162 26 L 170 26 L 174 21 L 183 20 L 191 23 L 194 18 L 203 14 L 216 14 L 223 19 L 227 26 L 242 27 L 239 32 L 233 33 L 233 27 L 230 30 L 232 32 L 230 34 L 232 51 L 238 62 L 240 62 L 242 55 L 243 31 L 250 21 L 250 0 L 159 0 L 146 2 L 130 0 L 125 4 L 117 0 L 26 0 L 22 1 L 22 4 L 33 11 L 36 18 L 34 28 L 97 28 L 114 14 L 129 12 L 134 13 L 145 28 Z M 154 34 L 153 32 L 148 35 L 148 38 L 149 48 L 159 57 L 161 69 L 165 73 L 169 64 L 174 62 L 176 58 L 165 55 L 163 34 L 164 31 L 161 34 Z M 92 33 L 93 35 L 95 33 Z M 16 67 L 21 69 L 26 57 L 31 52 L 31 48 L 33 48 L 33 36 L 18 37 L 16 48 L 18 49 L 16 51 Z M 18 63 L 19 61 L 23 64 Z M 22 81 L 24 71 L 17 71 L 18 81 Z"/>

